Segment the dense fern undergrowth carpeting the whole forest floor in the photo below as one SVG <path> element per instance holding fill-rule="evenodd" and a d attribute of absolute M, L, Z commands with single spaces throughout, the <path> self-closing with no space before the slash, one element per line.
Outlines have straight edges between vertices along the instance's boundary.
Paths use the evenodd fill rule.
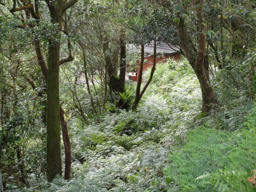
<path fill-rule="evenodd" d="M 221 106 L 205 116 L 188 62 L 158 65 L 137 110 L 106 112 L 88 126 L 70 120 L 70 181 L 42 178 L 30 188 L 9 184 L 9 192 L 256 191 L 248 181 L 256 165 L 256 107 L 226 74 L 215 72 Z"/>

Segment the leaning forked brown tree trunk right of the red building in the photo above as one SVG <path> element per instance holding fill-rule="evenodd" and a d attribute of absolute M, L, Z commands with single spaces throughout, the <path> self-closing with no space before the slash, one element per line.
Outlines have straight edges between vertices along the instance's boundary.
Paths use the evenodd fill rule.
<path fill-rule="evenodd" d="M 205 37 L 205 25 L 204 25 L 204 6 L 203 0 L 198 0 L 198 53 L 196 54 L 191 45 L 191 41 L 188 37 L 185 21 L 180 18 L 180 22 L 177 26 L 178 36 L 180 40 L 180 47 L 182 48 L 184 55 L 188 59 L 190 65 L 194 69 L 196 76 L 199 80 L 202 91 L 202 112 L 209 112 L 214 108 L 218 101 L 216 95 L 210 85 L 207 78 L 206 71 L 204 69 L 204 57 L 206 51 L 206 37 Z"/>

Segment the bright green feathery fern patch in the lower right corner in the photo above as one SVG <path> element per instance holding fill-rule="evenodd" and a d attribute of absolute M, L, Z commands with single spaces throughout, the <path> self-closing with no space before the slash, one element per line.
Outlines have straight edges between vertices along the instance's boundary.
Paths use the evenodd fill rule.
<path fill-rule="evenodd" d="M 188 132 L 188 143 L 172 154 L 168 176 L 186 191 L 253 191 L 247 181 L 255 161 L 255 129 L 229 133 Z M 210 185 L 209 185 L 210 184 Z"/>

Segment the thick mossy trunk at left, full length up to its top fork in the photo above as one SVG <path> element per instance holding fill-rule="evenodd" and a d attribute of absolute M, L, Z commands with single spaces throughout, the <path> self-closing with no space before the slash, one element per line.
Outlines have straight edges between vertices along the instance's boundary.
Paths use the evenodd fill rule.
<path fill-rule="evenodd" d="M 52 34 L 48 47 L 48 77 L 47 77 L 47 180 L 62 175 L 60 151 L 60 99 L 59 99 L 59 70 L 60 70 L 60 37 L 62 31 L 62 17 L 64 12 L 77 0 L 65 2 L 63 0 L 46 0 L 52 24 L 58 25 L 56 34 Z"/>

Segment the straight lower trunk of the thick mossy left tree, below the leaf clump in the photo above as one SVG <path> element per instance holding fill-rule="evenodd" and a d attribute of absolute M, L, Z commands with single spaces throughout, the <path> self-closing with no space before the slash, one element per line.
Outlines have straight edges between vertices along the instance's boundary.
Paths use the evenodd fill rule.
<path fill-rule="evenodd" d="M 60 152 L 60 99 L 59 99 L 60 44 L 50 42 L 48 48 L 46 154 L 47 180 L 62 175 Z"/>

